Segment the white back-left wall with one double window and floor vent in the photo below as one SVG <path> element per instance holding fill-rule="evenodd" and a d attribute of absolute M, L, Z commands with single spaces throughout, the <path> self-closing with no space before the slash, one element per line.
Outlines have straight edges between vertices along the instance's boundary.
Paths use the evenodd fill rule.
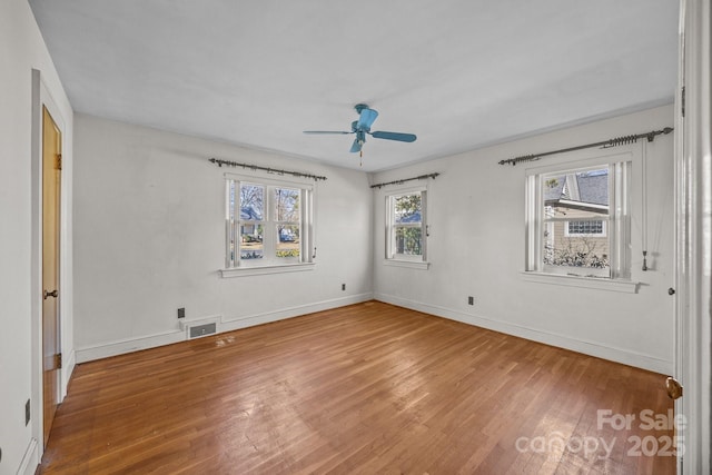
<path fill-rule="evenodd" d="M 373 297 L 366 174 L 87 115 L 75 128 L 79 362 L 185 339 L 179 307 L 186 319 L 219 316 L 228 330 Z M 224 175 L 249 170 L 211 157 L 328 178 L 316 185 L 314 270 L 218 275 Z"/>

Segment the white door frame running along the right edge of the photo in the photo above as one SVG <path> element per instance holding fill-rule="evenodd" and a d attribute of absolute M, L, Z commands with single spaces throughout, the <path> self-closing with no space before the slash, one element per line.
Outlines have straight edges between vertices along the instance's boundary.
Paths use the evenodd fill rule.
<path fill-rule="evenodd" d="M 712 168 L 710 146 L 710 3 L 680 0 L 675 93 L 675 400 L 683 415 L 681 474 L 710 473 L 712 413 Z M 682 91 L 684 88 L 684 97 Z M 682 105 L 684 102 L 684 117 Z"/>

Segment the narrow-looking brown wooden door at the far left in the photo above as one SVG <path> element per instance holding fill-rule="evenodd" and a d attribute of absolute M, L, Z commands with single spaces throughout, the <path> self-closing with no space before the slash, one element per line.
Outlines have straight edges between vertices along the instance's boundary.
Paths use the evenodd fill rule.
<path fill-rule="evenodd" d="M 42 108 L 42 427 L 44 446 L 59 395 L 59 222 L 61 133 Z"/>

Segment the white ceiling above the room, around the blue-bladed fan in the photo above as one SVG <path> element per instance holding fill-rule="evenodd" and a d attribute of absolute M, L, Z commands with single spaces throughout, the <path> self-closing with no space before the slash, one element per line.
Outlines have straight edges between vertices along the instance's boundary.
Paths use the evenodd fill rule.
<path fill-rule="evenodd" d="M 375 171 L 673 100 L 675 0 L 29 0 L 76 111 Z M 353 109 L 413 144 L 349 154 Z M 229 159 L 229 157 L 221 157 Z"/>

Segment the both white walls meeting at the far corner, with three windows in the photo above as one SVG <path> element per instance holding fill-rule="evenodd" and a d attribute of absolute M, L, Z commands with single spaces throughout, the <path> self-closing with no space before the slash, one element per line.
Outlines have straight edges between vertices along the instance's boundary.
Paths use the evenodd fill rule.
<path fill-rule="evenodd" d="M 501 159 L 661 129 L 661 107 L 376 174 L 425 172 L 431 268 L 383 265 L 382 191 L 365 174 L 275 154 L 77 115 L 75 174 L 78 360 L 185 339 L 188 319 L 218 317 L 228 330 L 307 311 L 382 300 L 661 373 L 672 372 L 672 135 L 647 147 L 649 267 L 633 216 L 633 279 L 622 294 L 525 281 L 524 171 Z M 222 175 L 210 157 L 296 169 L 329 179 L 317 192 L 314 271 L 222 279 Z M 634 209 L 642 180 L 634 180 Z M 373 202 L 373 206 L 372 206 Z M 373 243 L 373 249 L 364 243 Z M 370 265 L 373 263 L 373 266 Z M 373 285 L 372 285 L 373 276 Z M 340 284 L 347 284 L 347 291 Z M 278 289 L 278 290 L 275 290 Z M 467 296 L 476 304 L 467 305 Z"/>

